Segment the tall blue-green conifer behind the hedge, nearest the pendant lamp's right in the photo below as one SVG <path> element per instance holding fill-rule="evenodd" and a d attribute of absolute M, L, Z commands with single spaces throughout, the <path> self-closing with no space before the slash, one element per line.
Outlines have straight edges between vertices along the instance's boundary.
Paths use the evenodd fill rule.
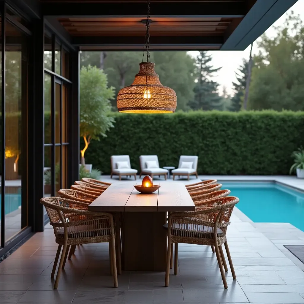
<path fill-rule="evenodd" d="M 221 67 L 213 68 L 210 65 L 211 60 L 211 55 L 208 55 L 206 51 L 200 51 L 195 60 L 194 99 L 189 102 L 189 106 L 193 110 L 220 110 L 222 108 L 223 100 L 217 92 L 219 84 L 212 80 L 214 73 Z"/>

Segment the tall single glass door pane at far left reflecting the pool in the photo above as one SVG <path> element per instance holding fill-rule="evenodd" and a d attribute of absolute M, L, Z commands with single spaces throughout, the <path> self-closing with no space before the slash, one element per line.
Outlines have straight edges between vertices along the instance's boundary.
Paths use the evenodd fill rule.
<path fill-rule="evenodd" d="M 5 21 L 5 242 L 27 226 L 27 36 Z M 2 202 L 3 203 L 3 202 Z"/>

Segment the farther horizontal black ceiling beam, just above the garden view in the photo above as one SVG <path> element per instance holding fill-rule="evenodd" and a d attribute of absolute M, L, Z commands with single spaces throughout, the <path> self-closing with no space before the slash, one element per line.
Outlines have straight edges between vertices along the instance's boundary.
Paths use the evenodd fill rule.
<path fill-rule="evenodd" d="M 141 36 L 75 36 L 72 38 L 72 43 L 75 46 L 81 46 L 84 50 L 86 47 L 99 47 L 99 50 L 121 50 L 126 48 L 128 50 L 142 50 L 144 37 Z M 218 49 L 223 43 L 222 36 L 151 36 L 150 49 Z"/>

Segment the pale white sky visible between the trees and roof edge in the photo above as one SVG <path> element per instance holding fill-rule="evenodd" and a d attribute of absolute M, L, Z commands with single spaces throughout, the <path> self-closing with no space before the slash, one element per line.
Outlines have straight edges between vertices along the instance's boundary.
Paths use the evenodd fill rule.
<path fill-rule="evenodd" d="M 302 20 L 304 20 L 304 0 L 298 0 L 287 12 L 293 10 L 296 14 L 300 14 Z M 279 26 L 284 23 L 285 14 L 280 17 L 273 25 Z M 272 26 L 266 30 L 268 36 L 274 36 L 275 31 Z M 196 51 L 190 51 L 192 55 L 197 54 Z M 216 81 L 220 84 L 219 92 L 222 94 L 223 86 L 226 86 L 228 94 L 232 91 L 232 81 L 235 81 L 235 71 L 242 64 L 242 59 L 248 58 L 250 53 L 250 46 L 244 51 L 209 51 L 212 54 L 212 64 L 214 67 L 222 67 L 218 71 Z M 254 43 L 253 53 L 257 53 L 257 46 Z"/>

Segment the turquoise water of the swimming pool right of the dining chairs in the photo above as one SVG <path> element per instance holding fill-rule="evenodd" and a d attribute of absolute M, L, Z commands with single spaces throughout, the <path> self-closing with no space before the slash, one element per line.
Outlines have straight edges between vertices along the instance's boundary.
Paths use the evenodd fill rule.
<path fill-rule="evenodd" d="M 240 202 L 237 208 L 253 222 L 291 223 L 304 231 L 304 193 L 273 183 L 222 182 Z"/>

